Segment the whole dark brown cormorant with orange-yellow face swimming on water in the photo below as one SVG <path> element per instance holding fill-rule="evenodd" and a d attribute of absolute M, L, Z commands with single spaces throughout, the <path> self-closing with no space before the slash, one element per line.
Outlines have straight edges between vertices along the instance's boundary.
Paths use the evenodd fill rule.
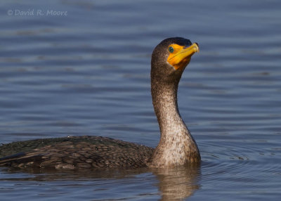
<path fill-rule="evenodd" d="M 156 148 L 103 136 L 67 136 L 0 145 L 0 167 L 40 169 L 174 168 L 199 164 L 200 150 L 178 110 L 178 83 L 197 43 L 161 41 L 151 57 L 152 105 L 159 123 Z"/>

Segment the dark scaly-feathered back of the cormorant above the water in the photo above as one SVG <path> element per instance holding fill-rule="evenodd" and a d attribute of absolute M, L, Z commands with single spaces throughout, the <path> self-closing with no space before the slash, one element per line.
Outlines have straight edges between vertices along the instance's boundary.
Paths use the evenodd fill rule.
<path fill-rule="evenodd" d="M 0 146 L 0 166 L 55 169 L 145 167 L 153 148 L 99 136 L 20 141 Z"/>

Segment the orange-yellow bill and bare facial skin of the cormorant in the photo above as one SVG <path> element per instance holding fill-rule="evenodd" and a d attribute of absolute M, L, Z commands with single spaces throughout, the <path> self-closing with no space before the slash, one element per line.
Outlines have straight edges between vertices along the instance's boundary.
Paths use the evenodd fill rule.
<path fill-rule="evenodd" d="M 174 48 L 174 52 L 170 53 L 167 62 L 174 66 L 175 70 L 188 65 L 191 56 L 194 53 L 199 52 L 199 46 L 197 43 L 188 47 L 172 44 L 171 47 Z"/>

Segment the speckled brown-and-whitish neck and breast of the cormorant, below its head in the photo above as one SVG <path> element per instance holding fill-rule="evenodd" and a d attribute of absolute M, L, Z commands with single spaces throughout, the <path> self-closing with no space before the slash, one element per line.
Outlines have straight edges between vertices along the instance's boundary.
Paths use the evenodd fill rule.
<path fill-rule="evenodd" d="M 177 91 L 178 82 L 152 83 L 152 103 L 161 137 L 152 155 L 151 167 L 175 167 L 200 161 L 197 145 L 178 112 Z"/>

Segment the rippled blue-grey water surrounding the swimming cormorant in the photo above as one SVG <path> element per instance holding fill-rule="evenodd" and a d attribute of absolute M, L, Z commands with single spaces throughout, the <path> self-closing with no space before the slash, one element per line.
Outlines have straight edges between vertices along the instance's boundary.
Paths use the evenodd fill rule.
<path fill-rule="evenodd" d="M 157 145 L 150 55 L 181 36 L 201 49 L 178 104 L 202 154 L 200 169 L 2 169 L 0 200 L 280 200 L 281 1 L 1 1 L 0 26 L 0 143 Z"/>

